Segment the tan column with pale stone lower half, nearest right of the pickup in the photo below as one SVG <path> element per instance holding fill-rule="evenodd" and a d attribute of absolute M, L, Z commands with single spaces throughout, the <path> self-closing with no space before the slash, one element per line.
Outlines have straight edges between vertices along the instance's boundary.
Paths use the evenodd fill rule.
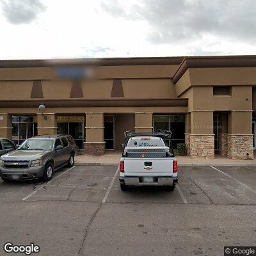
<path fill-rule="evenodd" d="M 214 159 L 213 111 L 191 111 L 190 115 L 190 157 Z"/>

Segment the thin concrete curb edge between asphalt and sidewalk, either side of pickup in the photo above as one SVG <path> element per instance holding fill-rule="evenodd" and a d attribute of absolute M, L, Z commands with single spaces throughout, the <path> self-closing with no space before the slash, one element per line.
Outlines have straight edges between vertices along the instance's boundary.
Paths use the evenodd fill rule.
<path fill-rule="evenodd" d="M 118 166 L 118 164 L 117 163 L 75 163 L 75 165 L 76 166 L 100 166 L 100 165 L 114 165 L 114 166 Z M 228 163 L 228 164 L 220 164 L 220 163 L 216 163 L 216 164 L 214 164 L 214 163 L 211 163 L 211 164 L 209 164 L 209 163 L 205 163 L 205 164 L 200 164 L 200 163 L 198 163 L 198 164 L 193 164 L 193 163 L 191 163 L 191 164 L 186 164 L 186 163 L 184 163 L 184 164 L 179 164 L 179 161 L 178 161 L 178 166 L 180 166 L 180 167 L 183 167 L 183 166 L 256 166 L 256 163 L 255 164 L 252 164 L 252 163 L 248 163 L 248 164 L 240 164 L 240 163 L 234 163 L 234 164 L 230 164 L 230 163 Z"/>

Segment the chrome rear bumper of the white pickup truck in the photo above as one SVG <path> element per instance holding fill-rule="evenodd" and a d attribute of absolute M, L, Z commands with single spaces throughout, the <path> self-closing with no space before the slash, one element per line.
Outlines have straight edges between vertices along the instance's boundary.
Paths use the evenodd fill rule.
<path fill-rule="evenodd" d="M 120 177 L 120 184 L 131 186 L 172 186 L 178 184 L 178 177 L 154 177 L 154 182 L 143 182 L 143 177 Z"/>

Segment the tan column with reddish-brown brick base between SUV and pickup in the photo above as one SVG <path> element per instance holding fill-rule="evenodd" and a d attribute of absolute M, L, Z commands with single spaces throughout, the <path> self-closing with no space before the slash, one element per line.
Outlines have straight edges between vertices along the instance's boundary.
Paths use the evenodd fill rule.
<path fill-rule="evenodd" d="M 86 113 L 85 153 L 93 156 L 105 154 L 104 113 Z"/>

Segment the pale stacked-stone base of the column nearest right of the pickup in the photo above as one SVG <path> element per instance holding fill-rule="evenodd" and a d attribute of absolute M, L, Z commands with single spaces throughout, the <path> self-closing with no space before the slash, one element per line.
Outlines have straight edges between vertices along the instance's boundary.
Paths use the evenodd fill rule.
<path fill-rule="evenodd" d="M 214 134 L 190 134 L 190 157 L 214 159 Z"/>

